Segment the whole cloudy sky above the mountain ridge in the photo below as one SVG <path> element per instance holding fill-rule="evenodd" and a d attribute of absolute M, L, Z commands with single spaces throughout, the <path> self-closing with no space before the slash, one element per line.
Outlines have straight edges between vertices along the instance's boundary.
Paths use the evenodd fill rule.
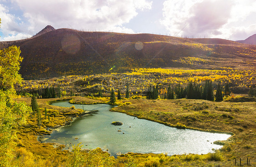
<path fill-rule="evenodd" d="M 0 41 L 55 29 L 245 40 L 256 0 L 0 0 Z"/>

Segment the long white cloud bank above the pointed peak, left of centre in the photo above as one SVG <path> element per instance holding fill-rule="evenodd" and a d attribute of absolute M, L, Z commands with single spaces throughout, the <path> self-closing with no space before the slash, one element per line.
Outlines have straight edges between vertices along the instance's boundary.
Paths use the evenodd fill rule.
<path fill-rule="evenodd" d="M 13 0 L 28 20 L 27 32 L 36 34 L 46 25 L 78 30 L 116 30 L 132 33 L 122 25 L 150 10 L 149 0 Z M 68 25 L 69 24 L 69 25 Z"/>

